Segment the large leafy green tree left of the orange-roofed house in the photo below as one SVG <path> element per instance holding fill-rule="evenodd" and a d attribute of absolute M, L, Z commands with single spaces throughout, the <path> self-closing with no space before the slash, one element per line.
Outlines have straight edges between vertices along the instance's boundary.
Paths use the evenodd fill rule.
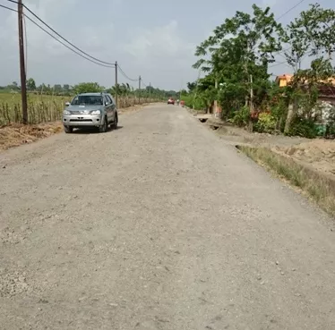
<path fill-rule="evenodd" d="M 201 68 L 211 77 L 210 91 L 202 93 L 207 103 L 220 98 L 225 116 L 229 116 L 233 105 L 250 106 L 252 110 L 254 102 L 262 103 L 269 85 L 268 64 L 274 62 L 274 53 L 281 50 L 281 34 L 281 25 L 270 8 L 262 10 L 256 4 L 253 14 L 236 12 L 218 26 L 197 47 L 195 55 L 201 58 L 193 64 L 193 68 Z M 222 89 L 212 90 L 215 82 Z"/>

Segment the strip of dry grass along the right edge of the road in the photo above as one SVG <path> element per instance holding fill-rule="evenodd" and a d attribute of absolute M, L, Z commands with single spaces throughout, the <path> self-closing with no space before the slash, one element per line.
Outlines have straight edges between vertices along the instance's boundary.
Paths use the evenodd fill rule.
<path fill-rule="evenodd" d="M 299 188 L 331 216 L 335 216 L 335 178 L 318 173 L 267 148 L 240 147 L 256 163 Z"/>

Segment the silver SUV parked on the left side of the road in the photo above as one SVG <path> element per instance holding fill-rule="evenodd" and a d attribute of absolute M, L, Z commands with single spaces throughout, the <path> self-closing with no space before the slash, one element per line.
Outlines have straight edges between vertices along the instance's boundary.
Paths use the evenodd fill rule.
<path fill-rule="evenodd" d="M 63 112 L 65 133 L 72 133 L 74 128 L 98 127 L 100 132 L 117 128 L 118 115 L 114 98 L 107 93 L 84 93 L 67 102 Z"/>

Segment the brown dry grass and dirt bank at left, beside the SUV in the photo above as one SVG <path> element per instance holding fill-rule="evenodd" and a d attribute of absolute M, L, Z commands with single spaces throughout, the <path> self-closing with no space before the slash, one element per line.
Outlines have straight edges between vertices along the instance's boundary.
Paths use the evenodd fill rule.
<path fill-rule="evenodd" d="M 47 138 L 63 130 L 62 123 L 12 124 L 0 128 L 0 151 Z"/>

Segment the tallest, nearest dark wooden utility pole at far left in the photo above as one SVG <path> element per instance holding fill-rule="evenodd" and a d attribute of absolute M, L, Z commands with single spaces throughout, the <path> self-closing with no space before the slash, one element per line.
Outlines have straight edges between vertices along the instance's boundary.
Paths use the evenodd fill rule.
<path fill-rule="evenodd" d="M 28 123 L 28 106 L 27 106 L 27 85 L 26 85 L 26 67 L 24 63 L 24 39 L 23 39 L 23 5 L 22 0 L 17 3 L 18 21 L 19 21 L 19 49 L 20 49 L 20 73 L 21 73 L 21 101 L 22 101 L 22 122 Z"/>

